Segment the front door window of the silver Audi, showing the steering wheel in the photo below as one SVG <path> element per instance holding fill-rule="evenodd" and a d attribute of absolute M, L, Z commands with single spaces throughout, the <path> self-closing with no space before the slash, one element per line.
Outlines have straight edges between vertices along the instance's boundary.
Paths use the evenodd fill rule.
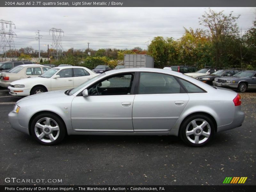
<path fill-rule="evenodd" d="M 89 95 L 130 95 L 134 73 L 110 76 L 88 88 Z"/>

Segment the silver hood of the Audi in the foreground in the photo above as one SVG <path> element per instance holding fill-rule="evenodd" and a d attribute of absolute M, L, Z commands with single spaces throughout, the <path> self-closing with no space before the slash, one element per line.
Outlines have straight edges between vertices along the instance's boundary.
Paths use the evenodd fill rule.
<path fill-rule="evenodd" d="M 20 100 L 17 101 L 17 104 L 20 102 L 28 101 L 28 102 L 45 102 L 49 103 L 51 101 L 58 101 L 60 97 L 74 97 L 74 96 L 68 96 L 65 94 L 65 91 L 67 90 L 59 90 L 59 91 L 50 91 L 50 92 L 44 92 L 44 93 L 39 93 L 35 95 L 30 95 L 27 97 L 24 97 Z"/>

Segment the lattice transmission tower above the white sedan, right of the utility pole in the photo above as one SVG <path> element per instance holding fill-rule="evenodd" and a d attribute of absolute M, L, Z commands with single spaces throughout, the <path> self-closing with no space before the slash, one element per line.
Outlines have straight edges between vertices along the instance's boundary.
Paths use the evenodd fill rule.
<path fill-rule="evenodd" d="M 49 30 L 49 35 L 50 31 L 52 31 L 52 47 L 50 54 L 56 60 L 59 60 L 61 57 L 66 57 L 61 45 L 61 34 L 63 33 L 64 36 L 64 31 L 62 29 L 51 28 Z"/>

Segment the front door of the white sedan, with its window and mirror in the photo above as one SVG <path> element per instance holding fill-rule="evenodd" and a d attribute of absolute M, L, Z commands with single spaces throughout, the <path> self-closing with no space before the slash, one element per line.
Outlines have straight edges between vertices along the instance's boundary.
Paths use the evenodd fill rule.
<path fill-rule="evenodd" d="M 51 90 L 63 90 L 63 89 L 72 89 L 74 88 L 73 83 L 73 70 L 72 68 L 61 69 L 56 75 L 59 75 L 59 78 L 51 78 Z"/>

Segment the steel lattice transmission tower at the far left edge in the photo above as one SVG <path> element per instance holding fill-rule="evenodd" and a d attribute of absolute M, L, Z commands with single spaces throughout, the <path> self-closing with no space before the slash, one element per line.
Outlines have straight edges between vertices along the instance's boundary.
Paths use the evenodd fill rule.
<path fill-rule="evenodd" d="M 1 44 L 0 44 L 0 53 L 3 53 L 3 57 L 9 57 L 11 60 L 17 58 L 17 52 L 15 50 L 13 36 L 17 36 L 16 33 L 12 30 L 12 25 L 15 24 L 12 21 L 0 20 L 2 29 L 1 29 Z M 6 30 L 5 30 L 6 25 Z"/>

